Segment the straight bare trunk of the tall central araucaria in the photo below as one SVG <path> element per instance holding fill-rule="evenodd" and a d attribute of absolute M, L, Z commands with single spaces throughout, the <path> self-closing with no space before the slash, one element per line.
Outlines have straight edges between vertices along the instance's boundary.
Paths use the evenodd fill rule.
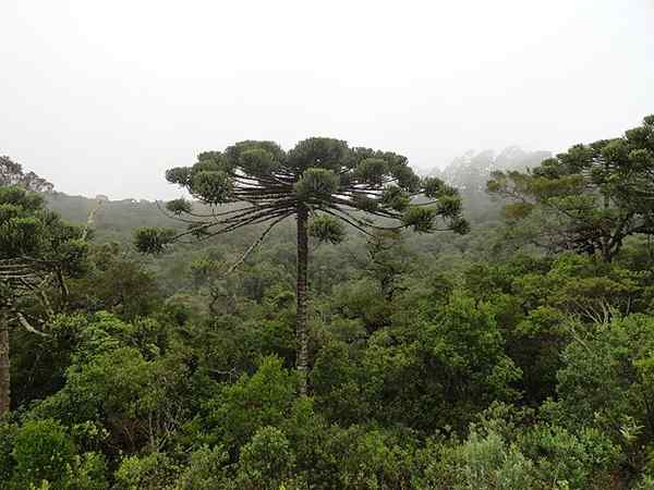
<path fill-rule="evenodd" d="M 306 378 L 308 375 L 308 334 L 306 326 L 306 289 L 307 273 L 306 265 L 308 261 L 308 235 L 306 232 L 306 222 L 308 220 L 308 210 L 303 205 L 298 208 L 298 289 L 296 301 L 298 308 L 295 315 L 295 336 L 298 341 L 298 355 L 295 367 L 300 375 L 300 394 L 306 394 Z"/>

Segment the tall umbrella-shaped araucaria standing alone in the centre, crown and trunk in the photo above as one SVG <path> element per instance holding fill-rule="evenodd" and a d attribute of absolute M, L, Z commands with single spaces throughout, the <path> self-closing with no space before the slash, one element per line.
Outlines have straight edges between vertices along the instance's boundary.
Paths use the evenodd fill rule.
<path fill-rule="evenodd" d="M 337 243 L 347 224 L 366 234 L 404 228 L 423 233 L 468 231 L 455 188 L 435 177 L 419 177 L 405 157 L 350 148 L 338 139 L 308 138 L 290 151 L 271 142 L 241 142 L 225 151 L 201 154 L 193 167 L 170 169 L 166 179 L 210 209 L 195 212 L 185 199 L 168 203 L 168 210 L 186 221 L 189 230 L 174 234 L 170 230 L 142 229 L 135 237 L 142 252 L 160 252 L 166 244 L 189 235 L 208 237 L 267 223 L 254 247 L 277 223 L 295 217 L 296 368 L 302 394 L 306 392 L 308 369 L 310 235 Z M 231 206 L 217 209 L 220 205 Z"/>

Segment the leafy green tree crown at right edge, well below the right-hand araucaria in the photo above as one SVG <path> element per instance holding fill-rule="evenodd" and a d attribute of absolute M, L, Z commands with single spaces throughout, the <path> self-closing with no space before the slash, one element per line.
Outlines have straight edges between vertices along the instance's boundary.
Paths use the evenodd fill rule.
<path fill-rule="evenodd" d="M 558 372 L 559 404 L 567 424 L 579 427 L 593 419 L 626 445 L 651 440 L 653 326 L 651 317 L 631 315 L 588 333 L 576 330 Z M 635 432 L 633 425 L 640 428 Z"/>

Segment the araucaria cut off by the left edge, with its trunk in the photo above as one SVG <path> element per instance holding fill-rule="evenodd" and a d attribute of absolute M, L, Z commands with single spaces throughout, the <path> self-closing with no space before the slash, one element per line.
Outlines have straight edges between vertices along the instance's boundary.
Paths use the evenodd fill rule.
<path fill-rule="evenodd" d="M 45 335 L 41 327 L 65 304 L 65 277 L 80 272 L 85 232 L 44 207 L 38 194 L 0 186 L 0 416 L 10 408 L 10 329 Z M 36 326 L 36 327 L 35 327 Z"/>

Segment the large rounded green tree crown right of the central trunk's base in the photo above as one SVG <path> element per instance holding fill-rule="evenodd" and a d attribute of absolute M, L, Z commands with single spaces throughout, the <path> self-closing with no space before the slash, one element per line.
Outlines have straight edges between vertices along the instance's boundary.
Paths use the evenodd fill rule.
<path fill-rule="evenodd" d="M 434 429 L 465 425 L 465 414 L 493 400 L 514 400 L 521 372 L 504 353 L 492 310 L 455 294 L 432 315 L 371 336 L 363 369 L 376 416 Z"/>

